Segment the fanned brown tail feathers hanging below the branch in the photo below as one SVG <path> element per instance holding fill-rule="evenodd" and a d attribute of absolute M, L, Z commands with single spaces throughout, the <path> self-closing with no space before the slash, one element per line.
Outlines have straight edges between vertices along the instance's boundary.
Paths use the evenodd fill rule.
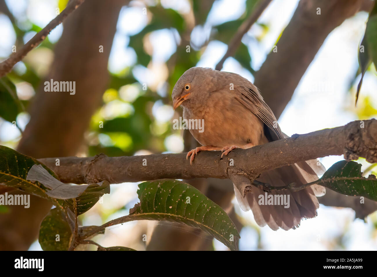
<path fill-rule="evenodd" d="M 317 160 L 299 162 L 262 173 L 257 181 L 280 187 L 296 183 L 296 186 L 318 180 L 325 168 Z M 301 218 L 317 215 L 319 203 L 316 196 L 325 194 L 325 188 L 312 185 L 293 192 L 290 190 L 271 190 L 264 192 L 253 187 L 245 198 L 234 186 L 234 193 L 242 210 L 252 210 L 259 226 L 266 224 L 273 230 L 299 227 Z"/>

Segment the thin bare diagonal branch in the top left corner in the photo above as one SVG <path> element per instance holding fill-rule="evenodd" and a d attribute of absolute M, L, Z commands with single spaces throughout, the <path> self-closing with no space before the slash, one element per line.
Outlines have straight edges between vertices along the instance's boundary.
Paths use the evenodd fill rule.
<path fill-rule="evenodd" d="M 58 26 L 63 20 L 75 9 L 78 8 L 85 0 L 71 0 L 67 7 L 57 15 L 50 23 L 46 25 L 41 31 L 35 34 L 31 40 L 29 40 L 20 51 L 14 52 L 9 56 L 8 59 L 0 63 L 0 78 L 5 76 L 9 71 L 12 70 L 14 65 L 23 59 L 26 54 L 29 53 L 32 49 L 37 47 L 46 37 L 47 35 Z"/>

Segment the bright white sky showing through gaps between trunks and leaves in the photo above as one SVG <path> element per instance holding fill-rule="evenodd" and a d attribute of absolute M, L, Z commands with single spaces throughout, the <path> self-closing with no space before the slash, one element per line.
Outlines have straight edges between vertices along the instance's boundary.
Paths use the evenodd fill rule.
<path fill-rule="evenodd" d="M 6 0 L 6 2 L 17 18 L 22 19 L 26 14 L 26 17 L 31 22 L 42 27 L 55 17 L 56 0 Z M 175 8 L 178 11 L 185 12 L 188 9 L 187 0 L 179 2 L 162 0 L 161 2 L 165 7 Z M 251 41 L 247 45 L 252 56 L 254 69 L 258 69 L 265 60 L 282 28 L 288 24 L 297 2 L 297 0 L 289 2 L 274 0 L 258 20 L 261 23 L 266 23 L 269 26 L 269 31 L 261 43 Z M 205 38 L 207 36 L 206 32 L 210 30 L 209 26 L 237 19 L 244 9 L 245 0 L 217 0 L 208 16 L 207 22 L 203 27 L 194 30 L 192 39 L 201 40 Z M 355 87 L 352 88 L 352 93 L 350 94 L 348 86 L 357 70 L 357 49 L 363 36 L 366 19 L 366 13 L 359 13 L 355 17 L 346 20 L 331 32 L 325 40 L 319 53 L 303 76 L 292 100 L 279 118 L 280 126 L 287 135 L 336 127 L 357 119 L 355 113 L 346 110 L 345 107 L 352 109 L 353 106 Z M 135 64 L 135 51 L 127 47 L 129 36 L 139 32 L 146 24 L 147 17 L 142 16 L 140 5 L 122 9 L 110 54 L 110 71 L 116 73 L 123 70 L 124 67 Z M 53 42 L 57 41 L 62 29 L 61 26 L 55 29 L 49 39 Z M 249 34 L 257 36 L 260 32 L 261 29 L 258 26 L 253 26 Z M 14 44 L 15 34 L 8 18 L 4 15 L 0 15 L 0 34 L 0 57 L 6 57 L 11 53 L 10 49 Z M 32 35 L 27 34 L 25 39 L 30 39 Z M 133 73 L 139 82 L 146 82 L 151 87 L 159 87 L 159 93 L 164 94 L 167 92 L 162 89 L 164 80 L 161 81 L 161 76 L 163 76 L 164 72 L 164 62 L 176 50 L 175 37 L 171 30 L 164 29 L 153 32 L 149 39 L 153 45 L 154 66 L 153 68 L 140 66 L 135 68 Z M 300 45 L 297 45 L 297 47 L 300 47 Z M 215 67 L 226 50 L 227 45 L 224 43 L 218 41 L 210 42 L 198 66 Z M 239 73 L 253 81 L 251 74 L 243 69 L 233 58 L 226 60 L 223 70 Z M 313 86 L 321 82 L 325 84 L 325 90 L 311 90 Z M 362 95 L 372 95 L 376 87 L 376 76 L 367 73 L 363 82 Z M 153 107 L 153 115 L 161 122 L 172 121 L 172 108 L 157 102 Z M 20 121 L 23 121 L 23 124 L 20 125 L 25 125 L 27 116 L 21 116 Z M 10 124 L 0 122 L 0 139 L 2 141 L 16 139 L 19 135 L 17 129 L 12 128 Z M 170 152 L 180 152 L 183 149 L 182 138 L 172 135 L 167 138 L 166 146 Z M 328 168 L 340 159 L 342 159 L 340 156 L 331 156 L 322 158 L 321 161 Z M 112 195 L 124 192 L 124 186 L 129 186 L 135 190 L 135 185 L 118 184 L 112 187 Z M 135 197 L 135 191 L 133 192 L 133 197 Z M 106 203 L 106 201 L 104 202 Z M 236 201 L 234 203 L 238 207 Z M 251 212 L 245 213 L 239 210 L 239 214 L 242 214 L 250 224 L 256 224 Z M 333 240 L 345 232 L 345 236 L 342 238 L 345 249 L 377 249 L 371 217 L 369 217 L 367 223 L 363 223 L 361 220 L 353 221 L 354 212 L 351 209 L 336 209 L 322 205 L 318 214 L 318 217 L 314 219 L 303 221 L 297 230 L 271 231 L 268 227 L 261 228 L 263 248 L 266 250 L 333 249 Z M 376 220 L 375 214 L 372 217 Z M 95 216 L 88 217 L 86 220 L 88 221 L 86 222 L 87 224 L 100 223 L 98 222 L 100 219 L 95 218 Z M 124 228 L 133 226 L 132 224 L 134 223 L 124 224 L 116 229 L 122 231 Z M 241 232 L 241 237 L 241 250 L 256 249 L 257 233 L 253 228 L 244 228 Z M 216 242 L 215 245 L 217 249 L 224 249 L 221 243 Z M 31 249 L 40 249 L 40 247 L 35 243 Z"/>

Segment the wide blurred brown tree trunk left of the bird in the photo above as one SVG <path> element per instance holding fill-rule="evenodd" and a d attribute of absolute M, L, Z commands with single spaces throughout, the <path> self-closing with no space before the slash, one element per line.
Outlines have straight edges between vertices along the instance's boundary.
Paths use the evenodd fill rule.
<path fill-rule="evenodd" d="M 30 108 L 18 151 L 34 158 L 72 156 L 83 142 L 90 117 L 109 79 L 107 64 L 123 0 L 85 1 L 64 22 L 47 80 L 75 81 L 76 93 L 39 90 Z M 99 47 L 103 46 L 103 53 Z M 13 191 L 19 194 L 19 191 Z M 30 197 L 31 206 L 9 206 L 0 215 L 0 250 L 27 250 L 37 238 L 51 203 Z"/>

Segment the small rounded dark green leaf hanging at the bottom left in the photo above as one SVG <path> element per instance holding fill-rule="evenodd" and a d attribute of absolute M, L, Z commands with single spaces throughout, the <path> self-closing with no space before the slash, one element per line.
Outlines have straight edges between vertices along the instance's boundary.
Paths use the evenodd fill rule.
<path fill-rule="evenodd" d="M 44 251 L 67 251 L 72 231 L 63 212 L 54 208 L 43 219 L 39 230 L 38 241 Z"/>

